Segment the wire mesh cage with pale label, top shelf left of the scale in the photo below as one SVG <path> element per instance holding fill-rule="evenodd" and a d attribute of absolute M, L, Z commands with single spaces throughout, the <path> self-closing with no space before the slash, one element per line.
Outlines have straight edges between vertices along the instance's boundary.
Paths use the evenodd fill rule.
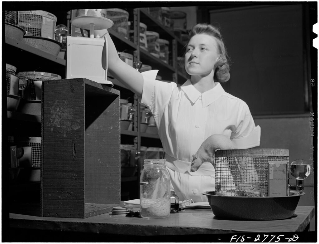
<path fill-rule="evenodd" d="M 26 30 L 26 36 L 54 38 L 56 16 L 52 13 L 35 10 L 19 11 L 19 27 Z"/>

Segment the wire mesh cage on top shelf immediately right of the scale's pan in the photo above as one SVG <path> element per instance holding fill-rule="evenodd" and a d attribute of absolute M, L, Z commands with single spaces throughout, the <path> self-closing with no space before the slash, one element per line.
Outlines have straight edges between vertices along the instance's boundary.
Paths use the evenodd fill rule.
<path fill-rule="evenodd" d="M 123 9 L 104 9 L 102 10 L 102 14 L 105 14 L 107 19 L 114 22 L 114 25 L 111 27 L 112 30 L 129 39 L 129 12 Z"/>

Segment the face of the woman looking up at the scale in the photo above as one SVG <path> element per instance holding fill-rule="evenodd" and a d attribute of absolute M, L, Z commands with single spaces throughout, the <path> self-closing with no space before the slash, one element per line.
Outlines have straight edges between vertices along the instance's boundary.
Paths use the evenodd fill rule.
<path fill-rule="evenodd" d="M 211 35 L 196 34 L 189 40 L 186 48 L 185 69 L 190 75 L 213 74 L 218 57 L 216 39 Z"/>

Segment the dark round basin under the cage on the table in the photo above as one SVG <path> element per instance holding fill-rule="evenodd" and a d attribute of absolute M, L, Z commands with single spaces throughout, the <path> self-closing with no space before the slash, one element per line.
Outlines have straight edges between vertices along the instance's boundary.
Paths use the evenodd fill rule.
<path fill-rule="evenodd" d="M 222 219 L 233 220 L 277 220 L 293 216 L 300 196 L 304 192 L 290 191 L 289 196 L 247 197 L 216 195 L 215 191 L 203 193 L 207 196 L 213 214 Z"/>

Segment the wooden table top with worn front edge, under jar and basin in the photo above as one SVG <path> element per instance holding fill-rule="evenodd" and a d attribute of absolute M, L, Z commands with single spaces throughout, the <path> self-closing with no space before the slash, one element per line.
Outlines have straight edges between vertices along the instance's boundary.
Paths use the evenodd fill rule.
<path fill-rule="evenodd" d="M 292 218 L 266 221 L 217 219 L 210 209 L 181 210 L 162 219 L 111 215 L 111 212 L 83 219 L 10 213 L 10 227 L 104 234 L 123 234 L 125 230 L 126 235 L 137 236 L 300 232 L 314 215 L 314 206 L 297 206 Z"/>

